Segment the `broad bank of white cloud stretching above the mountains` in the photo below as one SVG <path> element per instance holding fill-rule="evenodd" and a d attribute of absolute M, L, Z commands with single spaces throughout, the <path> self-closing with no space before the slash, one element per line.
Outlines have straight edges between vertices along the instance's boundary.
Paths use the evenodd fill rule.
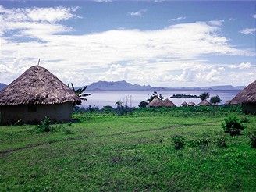
<path fill-rule="evenodd" d="M 0 82 L 6 84 L 36 65 L 39 58 L 41 66 L 66 84 L 72 82 L 76 86 L 98 80 L 127 80 L 134 84 L 186 87 L 187 82 L 189 86 L 201 84 L 202 80 L 205 84 L 221 82 L 223 76 L 233 80 L 227 69 L 243 69 L 244 75 L 255 71 L 248 68 L 247 62 L 229 67 L 200 60 L 205 54 L 254 55 L 254 52 L 229 44 L 229 40 L 219 33 L 221 22 L 183 23 L 159 30 L 108 30 L 68 35 L 63 33 L 73 29 L 60 21 L 77 18 L 75 8 L 47 9 L 62 12 L 59 19 L 46 16 L 46 9 L 22 10 L 26 12 L 22 14 L 21 9 L 1 7 Z M 14 13 L 18 19 L 12 19 Z M 11 35 L 7 37 L 5 33 Z"/>

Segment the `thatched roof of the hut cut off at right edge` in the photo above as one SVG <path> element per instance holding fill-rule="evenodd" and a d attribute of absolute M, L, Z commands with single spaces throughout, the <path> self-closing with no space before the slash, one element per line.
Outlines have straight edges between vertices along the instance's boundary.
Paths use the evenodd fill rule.
<path fill-rule="evenodd" d="M 256 102 L 256 80 L 249 84 L 244 90 L 236 94 L 231 101 L 236 101 L 237 103 L 254 103 Z"/>

